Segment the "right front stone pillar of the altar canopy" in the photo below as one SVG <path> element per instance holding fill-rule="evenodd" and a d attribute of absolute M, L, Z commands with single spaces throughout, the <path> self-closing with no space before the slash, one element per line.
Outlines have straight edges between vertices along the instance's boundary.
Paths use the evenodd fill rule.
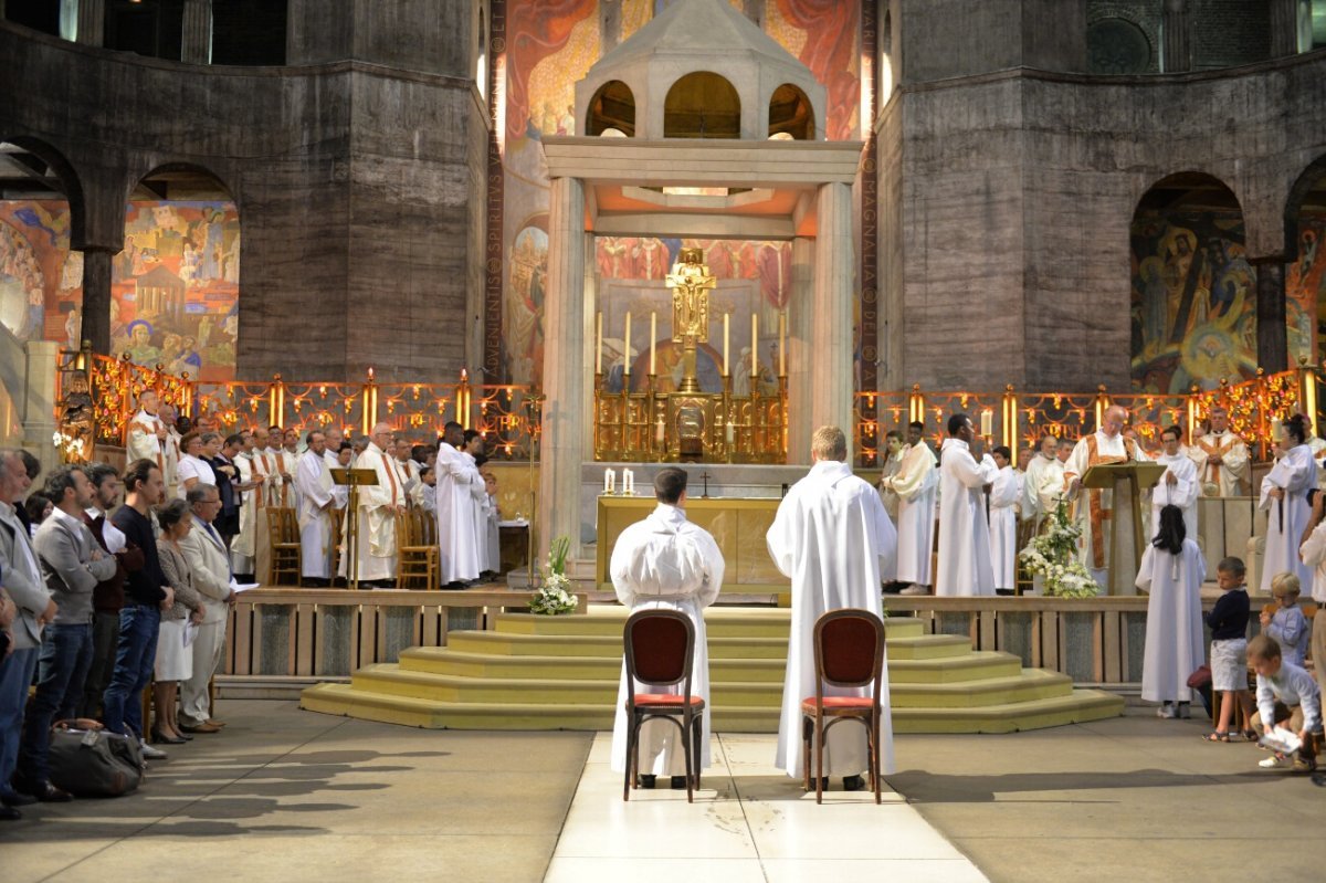
<path fill-rule="evenodd" d="M 851 248 L 851 188 L 821 184 L 817 207 L 814 314 L 810 318 L 810 424 L 837 426 L 851 445 L 853 392 L 851 298 L 855 259 Z M 793 427 L 793 431 L 797 431 Z M 808 439 L 809 444 L 809 439 Z M 850 460 L 849 460 L 850 461 Z"/>

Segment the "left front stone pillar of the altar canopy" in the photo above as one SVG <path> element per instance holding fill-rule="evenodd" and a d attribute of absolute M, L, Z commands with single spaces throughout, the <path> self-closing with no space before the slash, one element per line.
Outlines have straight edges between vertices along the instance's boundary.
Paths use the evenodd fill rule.
<path fill-rule="evenodd" d="M 538 557 L 549 542 L 581 545 L 581 456 L 585 451 L 585 188 L 554 178 L 548 215 L 548 288 L 544 300 L 544 420 L 538 465 Z"/>

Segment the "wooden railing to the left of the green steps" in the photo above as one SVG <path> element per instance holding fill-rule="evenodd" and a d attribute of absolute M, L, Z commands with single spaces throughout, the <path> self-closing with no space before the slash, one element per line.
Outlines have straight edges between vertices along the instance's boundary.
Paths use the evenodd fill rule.
<path fill-rule="evenodd" d="M 347 677 L 396 662 L 407 647 L 444 647 L 447 632 L 491 628 L 493 614 L 524 611 L 530 593 L 375 589 L 253 589 L 227 624 L 221 674 L 237 677 Z M 586 595 L 575 595 L 578 611 Z"/>

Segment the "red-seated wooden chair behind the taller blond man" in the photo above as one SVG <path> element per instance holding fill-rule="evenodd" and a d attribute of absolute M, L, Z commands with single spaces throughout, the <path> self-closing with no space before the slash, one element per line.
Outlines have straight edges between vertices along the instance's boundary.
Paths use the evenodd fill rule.
<path fill-rule="evenodd" d="M 810 744 L 815 750 L 815 803 L 823 802 L 825 736 L 845 720 L 866 727 L 870 788 L 880 802 L 879 727 L 884 680 L 884 622 L 869 610 L 830 610 L 815 620 L 815 695 L 801 700 L 802 764 L 810 790 Z M 825 696 L 830 687 L 870 687 L 869 696 Z"/>

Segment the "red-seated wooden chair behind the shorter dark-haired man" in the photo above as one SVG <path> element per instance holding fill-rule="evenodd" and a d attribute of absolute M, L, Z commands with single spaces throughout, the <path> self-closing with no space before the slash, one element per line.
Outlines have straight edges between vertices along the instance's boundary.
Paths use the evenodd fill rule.
<path fill-rule="evenodd" d="M 626 781 L 622 799 L 638 786 L 640 727 L 659 719 L 676 725 L 686 757 L 686 799 L 695 802 L 700 788 L 700 735 L 704 697 L 691 695 L 695 667 L 695 623 L 675 610 L 638 610 L 622 632 L 626 652 Z M 679 693 L 636 693 L 635 681 L 648 687 L 682 684 Z"/>

